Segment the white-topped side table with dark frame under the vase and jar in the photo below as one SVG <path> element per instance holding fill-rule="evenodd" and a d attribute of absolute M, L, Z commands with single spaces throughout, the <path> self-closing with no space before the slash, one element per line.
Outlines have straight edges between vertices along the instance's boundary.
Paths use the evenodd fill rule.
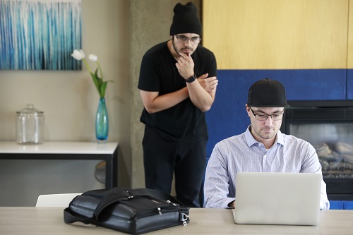
<path fill-rule="evenodd" d="M 102 159 L 106 162 L 105 188 L 117 186 L 118 143 L 44 142 L 41 145 L 18 145 L 0 141 L 0 159 Z"/>

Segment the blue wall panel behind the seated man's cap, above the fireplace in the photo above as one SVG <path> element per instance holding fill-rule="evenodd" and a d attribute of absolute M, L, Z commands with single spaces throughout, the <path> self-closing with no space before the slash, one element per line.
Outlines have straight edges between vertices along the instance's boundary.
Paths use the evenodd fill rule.
<path fill-rule="evenodd" d="M 353 71 L 351 71 L 353 87 Z M 207 155 L 220 140 L 238 135 L 249 126 L 246 114 L 248 90 L 256 80 L 279 80 L 286 88 L 287 100 L 353 99 L 353 88 L 346 95 L 346 69 L 310 70 L 219 70 L 215 102 L 206 112 L 208 123 Z"/>

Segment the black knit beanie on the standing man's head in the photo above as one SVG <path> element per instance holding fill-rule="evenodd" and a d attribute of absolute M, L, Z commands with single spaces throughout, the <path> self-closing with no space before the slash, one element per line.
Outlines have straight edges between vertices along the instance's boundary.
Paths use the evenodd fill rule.
<path fill-rule="evenodd" d="M 181 3 L 174 6 L 173 23 L 170 26 L 170 35 L 179 33 L 196 33 L 201 35 L 202 26 L 198 18 L 195 4 L 189 1 L 183 5 Z"/>

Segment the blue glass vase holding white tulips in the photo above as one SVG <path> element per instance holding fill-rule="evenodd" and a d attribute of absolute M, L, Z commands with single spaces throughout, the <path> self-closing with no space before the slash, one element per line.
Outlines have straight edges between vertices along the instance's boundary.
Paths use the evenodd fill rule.
<path fill-rule="evenodd" d="M 109 117 L 107 105 L 105 104 L 104 97 L 100 98 L 100 103 L 98 104 L 97 116 L 95 118 L 95 136 L 98 143 L 105 143 L 108 139 L 109 132 Z"/>

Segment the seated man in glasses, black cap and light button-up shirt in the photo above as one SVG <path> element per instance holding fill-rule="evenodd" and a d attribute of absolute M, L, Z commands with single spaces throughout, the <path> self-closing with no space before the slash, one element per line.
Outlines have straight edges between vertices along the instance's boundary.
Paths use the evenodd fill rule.
<path fill-rule="evenodd" d="M 305 140 L 281 133 L 287 98 L 276 80 L 251 85 L 246 112 L 251 125 L 241 135 L 220 141 L 213 148 L 205 174 L 204 207 L 234 208 L 237 172 L 306 172 L 322 174 L 315 148 Z M 330 203 L 321 183 L 320 208 Z"/>

